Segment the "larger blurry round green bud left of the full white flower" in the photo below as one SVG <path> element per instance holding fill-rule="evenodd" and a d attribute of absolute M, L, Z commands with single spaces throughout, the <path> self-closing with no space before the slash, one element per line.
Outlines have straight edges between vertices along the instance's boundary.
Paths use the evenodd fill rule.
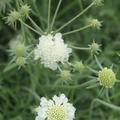
<path fill-rule="evenodd" d="M 16 47 L 14 48 L 14 54 L 17 56 L 17 57 L 22 57 L 24 56 L 26 53 L 26 48 L 24 46 L 24 44 L 18 44 L 16 45 Z"/>

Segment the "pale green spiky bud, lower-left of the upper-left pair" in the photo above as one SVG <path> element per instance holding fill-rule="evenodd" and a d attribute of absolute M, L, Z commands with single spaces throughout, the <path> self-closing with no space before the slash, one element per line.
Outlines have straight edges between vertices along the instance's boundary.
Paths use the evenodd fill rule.
<path fill-rule="evenodd" d="M 20 13 L 16 10 L 11 11 L 7 17 L 7 23 L 14 24 L 20 18 Z"/>

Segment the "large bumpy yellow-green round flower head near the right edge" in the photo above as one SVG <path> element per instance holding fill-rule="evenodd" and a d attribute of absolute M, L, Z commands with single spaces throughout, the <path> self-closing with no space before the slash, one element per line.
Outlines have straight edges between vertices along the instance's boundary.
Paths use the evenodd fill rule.
<path fill-rule="evenodd" d="M 111 69 L 105 67 L 99 71 L 98 80 L 100 82 L 100 85 L 106 88 L 112 88 L 116 82 L 116 76 Z"/>

